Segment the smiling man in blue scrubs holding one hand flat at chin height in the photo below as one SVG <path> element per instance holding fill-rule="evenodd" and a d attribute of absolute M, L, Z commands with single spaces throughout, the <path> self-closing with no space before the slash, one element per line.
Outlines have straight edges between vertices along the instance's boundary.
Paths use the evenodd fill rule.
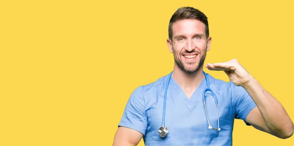
<path fill-rule="evenodd" d="M 203 72 L 210 43 L 202 12 L 181 7 L 172 15 L 167 44 L 173 72 L 134 90 L 113 146 L 136 146 L 142 137 L 146 146 L 231 146 L 234 119 L 278 138 L 293 135 L 294 124 L 283 106 L 236 59 L 205 65 L 224 71 L 230 82 Z M 205 92 L 204 104 L 207 87 L 213 92 Z"/>

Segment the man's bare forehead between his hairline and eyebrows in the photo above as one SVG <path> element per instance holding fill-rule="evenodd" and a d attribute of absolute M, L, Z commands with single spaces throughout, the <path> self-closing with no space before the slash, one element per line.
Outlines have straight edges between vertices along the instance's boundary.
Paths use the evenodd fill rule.
<path fill-rule="evenodd" d="M 172 24 L 173 36 L 203 34 L 205 36 L 205 24 L 196 19 L 179 20 Z"/>

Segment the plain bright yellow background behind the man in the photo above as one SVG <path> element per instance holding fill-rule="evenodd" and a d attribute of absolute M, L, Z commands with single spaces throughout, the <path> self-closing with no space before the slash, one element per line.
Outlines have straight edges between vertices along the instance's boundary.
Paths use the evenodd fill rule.
<path fill-rule="evenodd" d="M 0 0 L 0 146 L 111 146 L 133 90 L 172 71 L 181 6 L 209 18 L 205 63 L 237 58 L 294 120 L 290 1 Z M 235 121 L 234 146 L 293 144 Z"/>

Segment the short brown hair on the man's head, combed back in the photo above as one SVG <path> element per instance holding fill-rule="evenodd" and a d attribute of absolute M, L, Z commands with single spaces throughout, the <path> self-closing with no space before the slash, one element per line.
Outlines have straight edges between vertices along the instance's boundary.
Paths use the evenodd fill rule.
<path fill-rule="evenodd" d="M 203 14 L 198 9 L 195 9 L 193 7 L 180 7 L 178 8 L 174 14 L 172 15 L 172 18 L 170 20 L 169 24 L 169 38 L 172 40 L 172 24 L 183 19 L 196 19 L 200 22 L 205 24 L 205 34 L 206 38 L 209 36 L 209 28 L 208 28 L 208 21 L 205 14 Z"/>

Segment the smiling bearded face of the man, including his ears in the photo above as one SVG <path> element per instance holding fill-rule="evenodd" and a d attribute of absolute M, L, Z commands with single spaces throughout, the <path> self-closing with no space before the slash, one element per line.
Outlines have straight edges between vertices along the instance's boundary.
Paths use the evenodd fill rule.
<path fill-rule="evenodd" d="M 195 73 L 202 67 L 211 37 L 206 39 L 205 24 L 185 19 L 172 25 L 172 40 L 167 40 L 176 65 L 185 73 Z"/>

